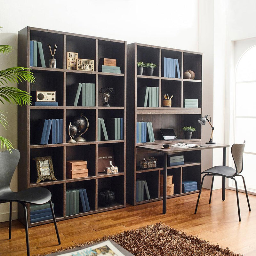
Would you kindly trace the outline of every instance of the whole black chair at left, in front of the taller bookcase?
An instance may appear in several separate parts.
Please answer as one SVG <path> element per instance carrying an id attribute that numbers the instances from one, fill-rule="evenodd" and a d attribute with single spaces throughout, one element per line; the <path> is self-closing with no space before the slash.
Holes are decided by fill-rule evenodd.
<path id="1" fill-rule="evenodd" d="M 52 207 L 52 194 L 48 189 L 28 188 L 20 192 L 12 192 L 10 188 L 10 183 L 12 180 L 13 173 L 19 163 L 19 160 L 20 152 L 17 149 L 13 149 L 12 153 L 10 153 L 9 151 L 0 152 L 0 201 L 10 202 L 9 239 L 11 239 L 12 236 L 12 202 L 18 202 L 23 205 L 26 229 L 27 254 L 28 256 L 30 256 L 28 241 L 28 213 L 26 203 L 45 204 L 49 202 L 52 210 L 52 217 L 59 244 L 60 236 Z"/>

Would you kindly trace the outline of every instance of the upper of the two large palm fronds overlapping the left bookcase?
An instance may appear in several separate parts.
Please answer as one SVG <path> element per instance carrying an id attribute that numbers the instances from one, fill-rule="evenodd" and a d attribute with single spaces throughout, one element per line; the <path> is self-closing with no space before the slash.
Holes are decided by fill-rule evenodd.
<path id="1" fill-rule="evenodd" d="M 22 67 L 13 67 L 6 68 L 5 70 L 0 70 L 0 83 L 4 85 L 4 83 L 8 82 L 22 82 L 27 81 L 29 83 L 34 83 L 36 78 L 34 74 L 28 71 L 29 68 Z"/>

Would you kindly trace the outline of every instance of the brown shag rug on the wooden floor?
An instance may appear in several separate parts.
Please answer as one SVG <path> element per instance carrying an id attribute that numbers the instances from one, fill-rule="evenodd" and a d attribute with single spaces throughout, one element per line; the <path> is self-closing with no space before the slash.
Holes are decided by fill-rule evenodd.
<path id="1" fill-rule="evenodd" d="M 76 244 L 65 249 L 61 248 L 55 252 L 94 244 L 108 239 L 112 239 L 127 251 L 138 256 L 241 256 L 241 254 L 231 252 L 228 248 L 223 249 L 218 244 L 211 244 L 197 236 L 187 235 L 163 223 L 124 231 L 112 236 L 104 236 L 94 241 Z M 35 256 L 43 255 L 46 254 L 36 254 Z"/>

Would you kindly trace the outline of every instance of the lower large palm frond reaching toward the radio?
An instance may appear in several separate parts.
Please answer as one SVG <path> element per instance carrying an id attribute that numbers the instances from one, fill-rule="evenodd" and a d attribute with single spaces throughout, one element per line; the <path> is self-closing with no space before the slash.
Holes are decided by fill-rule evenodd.
<path id="1" fill-rule="evenodd" d="M 17 105 L 27 105 L 31 102 L 31 96 L 28 92 L 21 91 L 14 87 L 0 87 L 0 102 L 4 104 L 3 100 L 9 103 L 14 103 Z"/>

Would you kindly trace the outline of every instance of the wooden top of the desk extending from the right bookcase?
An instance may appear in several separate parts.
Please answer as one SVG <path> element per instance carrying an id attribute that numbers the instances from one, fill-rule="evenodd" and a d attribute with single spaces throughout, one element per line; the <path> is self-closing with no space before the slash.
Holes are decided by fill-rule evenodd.
<path id="1" fill-rule="evenodd" d="M 168 144 L 168 143 L 166 143 L 166 144 Z M 196 143 L 192 142 L 192 144 L 196 144 Z M 164 148 L 161 148 L 162 144 L 158 144 L 158 145 L 137 146 L 137 148 L 145 149 L 145 150 L 151 150 L 151 151 L 155 151 L 155 152 L 173 154 L 173 153 L 183 152 L 183 151 L 204 150 L 204 149 L 212 149 L 212 148 L 228 148 L 229 147 L 228 144 L 220 144 L 220 143 L 217 143 L 217 144 L 205 144 L 205 143 L 199 142 L 199 143 L 197 143 L 197 145 L 207 145 L 209 147 L 202 147 L 202 148 L 197 148 L 197 147 L 196 148 L 176 148 L 176 147 L 172 147 L 171 144 L 170 144 L 170 148 L 164 149 Z"/>

